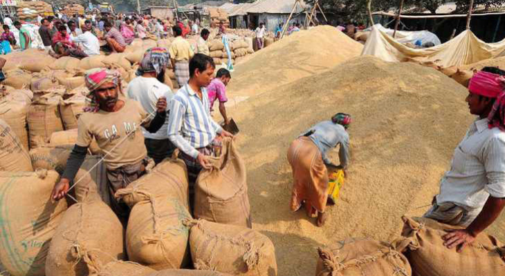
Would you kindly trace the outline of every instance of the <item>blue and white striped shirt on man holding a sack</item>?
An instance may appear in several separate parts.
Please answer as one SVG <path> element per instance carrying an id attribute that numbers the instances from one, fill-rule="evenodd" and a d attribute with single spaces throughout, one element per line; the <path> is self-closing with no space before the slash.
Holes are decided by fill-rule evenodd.
<path id="1" fill-rule="evenodd" d="M 168 138 L 185 154 L 198 157 L 196 148 L 205 148 L 221 133 L 222 128 L 210 116 L 210 103 L 206 88 L 201 88 L 202 98 L 186 84 L 170 101 Z"/>

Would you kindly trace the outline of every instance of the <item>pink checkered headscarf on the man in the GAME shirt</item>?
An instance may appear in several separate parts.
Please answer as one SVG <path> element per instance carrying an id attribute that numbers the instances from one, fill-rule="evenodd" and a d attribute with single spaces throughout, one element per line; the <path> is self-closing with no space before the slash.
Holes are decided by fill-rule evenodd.
<path id="1" fill-rule="evenodd" d="M 87 70 L 84 73 L 84 83 L 86 83 L 86 87 L 89 90 L 86 97 L 88 97 L 91 101 L 91 108 L 86 109 L 86 111 L 97 112 L 100 108 L 94 92 L 104 83 L 114 83 L 114 85 L 121 89 L 120 76 L 121 75 L 117 70 L 107 70 L 104 68 L 94 68 Z"/>

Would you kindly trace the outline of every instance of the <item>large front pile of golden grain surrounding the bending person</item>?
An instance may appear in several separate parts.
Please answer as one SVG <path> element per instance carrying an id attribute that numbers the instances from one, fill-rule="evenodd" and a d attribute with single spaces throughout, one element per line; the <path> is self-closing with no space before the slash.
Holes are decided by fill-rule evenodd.
<path id="1" fill-rule="evenodd" d="M 259 68 L 260 78 L 275 76 Z M 422 215 L 472 122 L 467 93 L 432 68 L 358 57 L 230 108 L 241 129 L 253 228 L 273 240 L 279 275 L 313 275 L 317 246 L 349 236 L 391 240 L 401 215 Z M 349 178 L 318 228 L 303 210 L 289 209 L 286 153 L 297 135 L 336 112 L 353 116 Z M 338 150 L 329 158 L 338 163 Z"/>

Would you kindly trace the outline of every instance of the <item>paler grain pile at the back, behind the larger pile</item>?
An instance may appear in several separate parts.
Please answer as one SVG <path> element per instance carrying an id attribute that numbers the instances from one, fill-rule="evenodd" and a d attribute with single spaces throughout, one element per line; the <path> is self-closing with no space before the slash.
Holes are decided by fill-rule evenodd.
<path id="1" fill-rule="evenodd" d="M 261 94 L 358 57 L 362 48 L 331 26 L 300 31 L 237 64 L 228 89 L 241 97 Z"/>

